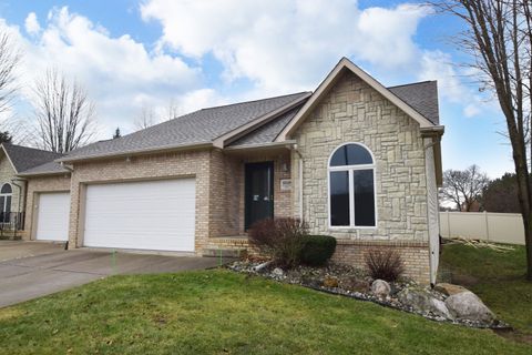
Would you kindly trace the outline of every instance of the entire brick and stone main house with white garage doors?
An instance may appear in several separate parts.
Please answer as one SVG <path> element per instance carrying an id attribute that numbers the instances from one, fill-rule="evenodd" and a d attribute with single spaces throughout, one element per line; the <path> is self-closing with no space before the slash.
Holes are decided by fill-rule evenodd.
<path id="1" fill-rule="evenodd" d="M 212 254 L 296 216 L 337 237 L 337 261 L 391 247 L 434 282 L 442 134 L 436 82 L 385 88 L 342 59 L 315 92 L 200 110 L 20 173 L 25 226 L 50 239 L 53 217 L 70 248 Z"/>

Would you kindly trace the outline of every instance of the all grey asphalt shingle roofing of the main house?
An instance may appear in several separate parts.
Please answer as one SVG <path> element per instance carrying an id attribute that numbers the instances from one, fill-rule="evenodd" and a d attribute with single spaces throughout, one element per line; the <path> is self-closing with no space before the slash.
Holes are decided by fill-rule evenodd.
<path id="1" fill-rule="evenodd" d="M 424 81 L 388 88 L 433 124 L 439 124 L 438 89 L 436 81 Z M 65 161 L 93 156 L 127 154 L 147 150 L 170 149 L 180 145 L 208 144 L 269 112 L 308 97 L 300 92 L 283 97 L 234 103 L 198 110 L 174 120 L 156 124 L 120 139 L 101 141 L 70 152 Z M 301 101 L 303 102 L 303 101 Z M 286 112 L 267 124 L 233 142 L 247 145 L 273 142 L 301 105 Z M 51 169 L 52 166 L 43 166 Z M 59 169 L 55 166 L 55 169 Z M 62 169 L 62 168 L 61 168 Z"/>

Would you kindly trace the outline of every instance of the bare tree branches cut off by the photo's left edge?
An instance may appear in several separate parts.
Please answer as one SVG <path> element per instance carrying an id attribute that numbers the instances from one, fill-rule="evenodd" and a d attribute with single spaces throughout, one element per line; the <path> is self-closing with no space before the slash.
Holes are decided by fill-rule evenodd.
<path id="1" fill-rule="evenodd" d="M 0 112 L 10 108 L 11 100 L 18 87 L 14 70 L 21 59 L 8 33 L 0 33 Z"/>

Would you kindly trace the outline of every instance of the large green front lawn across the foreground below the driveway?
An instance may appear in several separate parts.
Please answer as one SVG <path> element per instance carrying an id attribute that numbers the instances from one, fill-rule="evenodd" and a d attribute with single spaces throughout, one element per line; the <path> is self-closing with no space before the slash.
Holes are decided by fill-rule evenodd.
<path id="1" fill-rule="evenodd" d="M 530 354 L 491 331 L 227 271 L 113 276 L 0 310 L 3 354 Z"/>

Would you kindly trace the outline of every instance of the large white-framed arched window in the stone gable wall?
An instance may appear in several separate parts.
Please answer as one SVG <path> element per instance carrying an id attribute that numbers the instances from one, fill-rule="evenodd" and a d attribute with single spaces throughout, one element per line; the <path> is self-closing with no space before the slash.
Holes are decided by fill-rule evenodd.
<path id="1" fill-rule="evenodd" d="M 360 143 L 337 148 L 329 159 L 329 225 L 375 227 L 375 160 Z"/>

